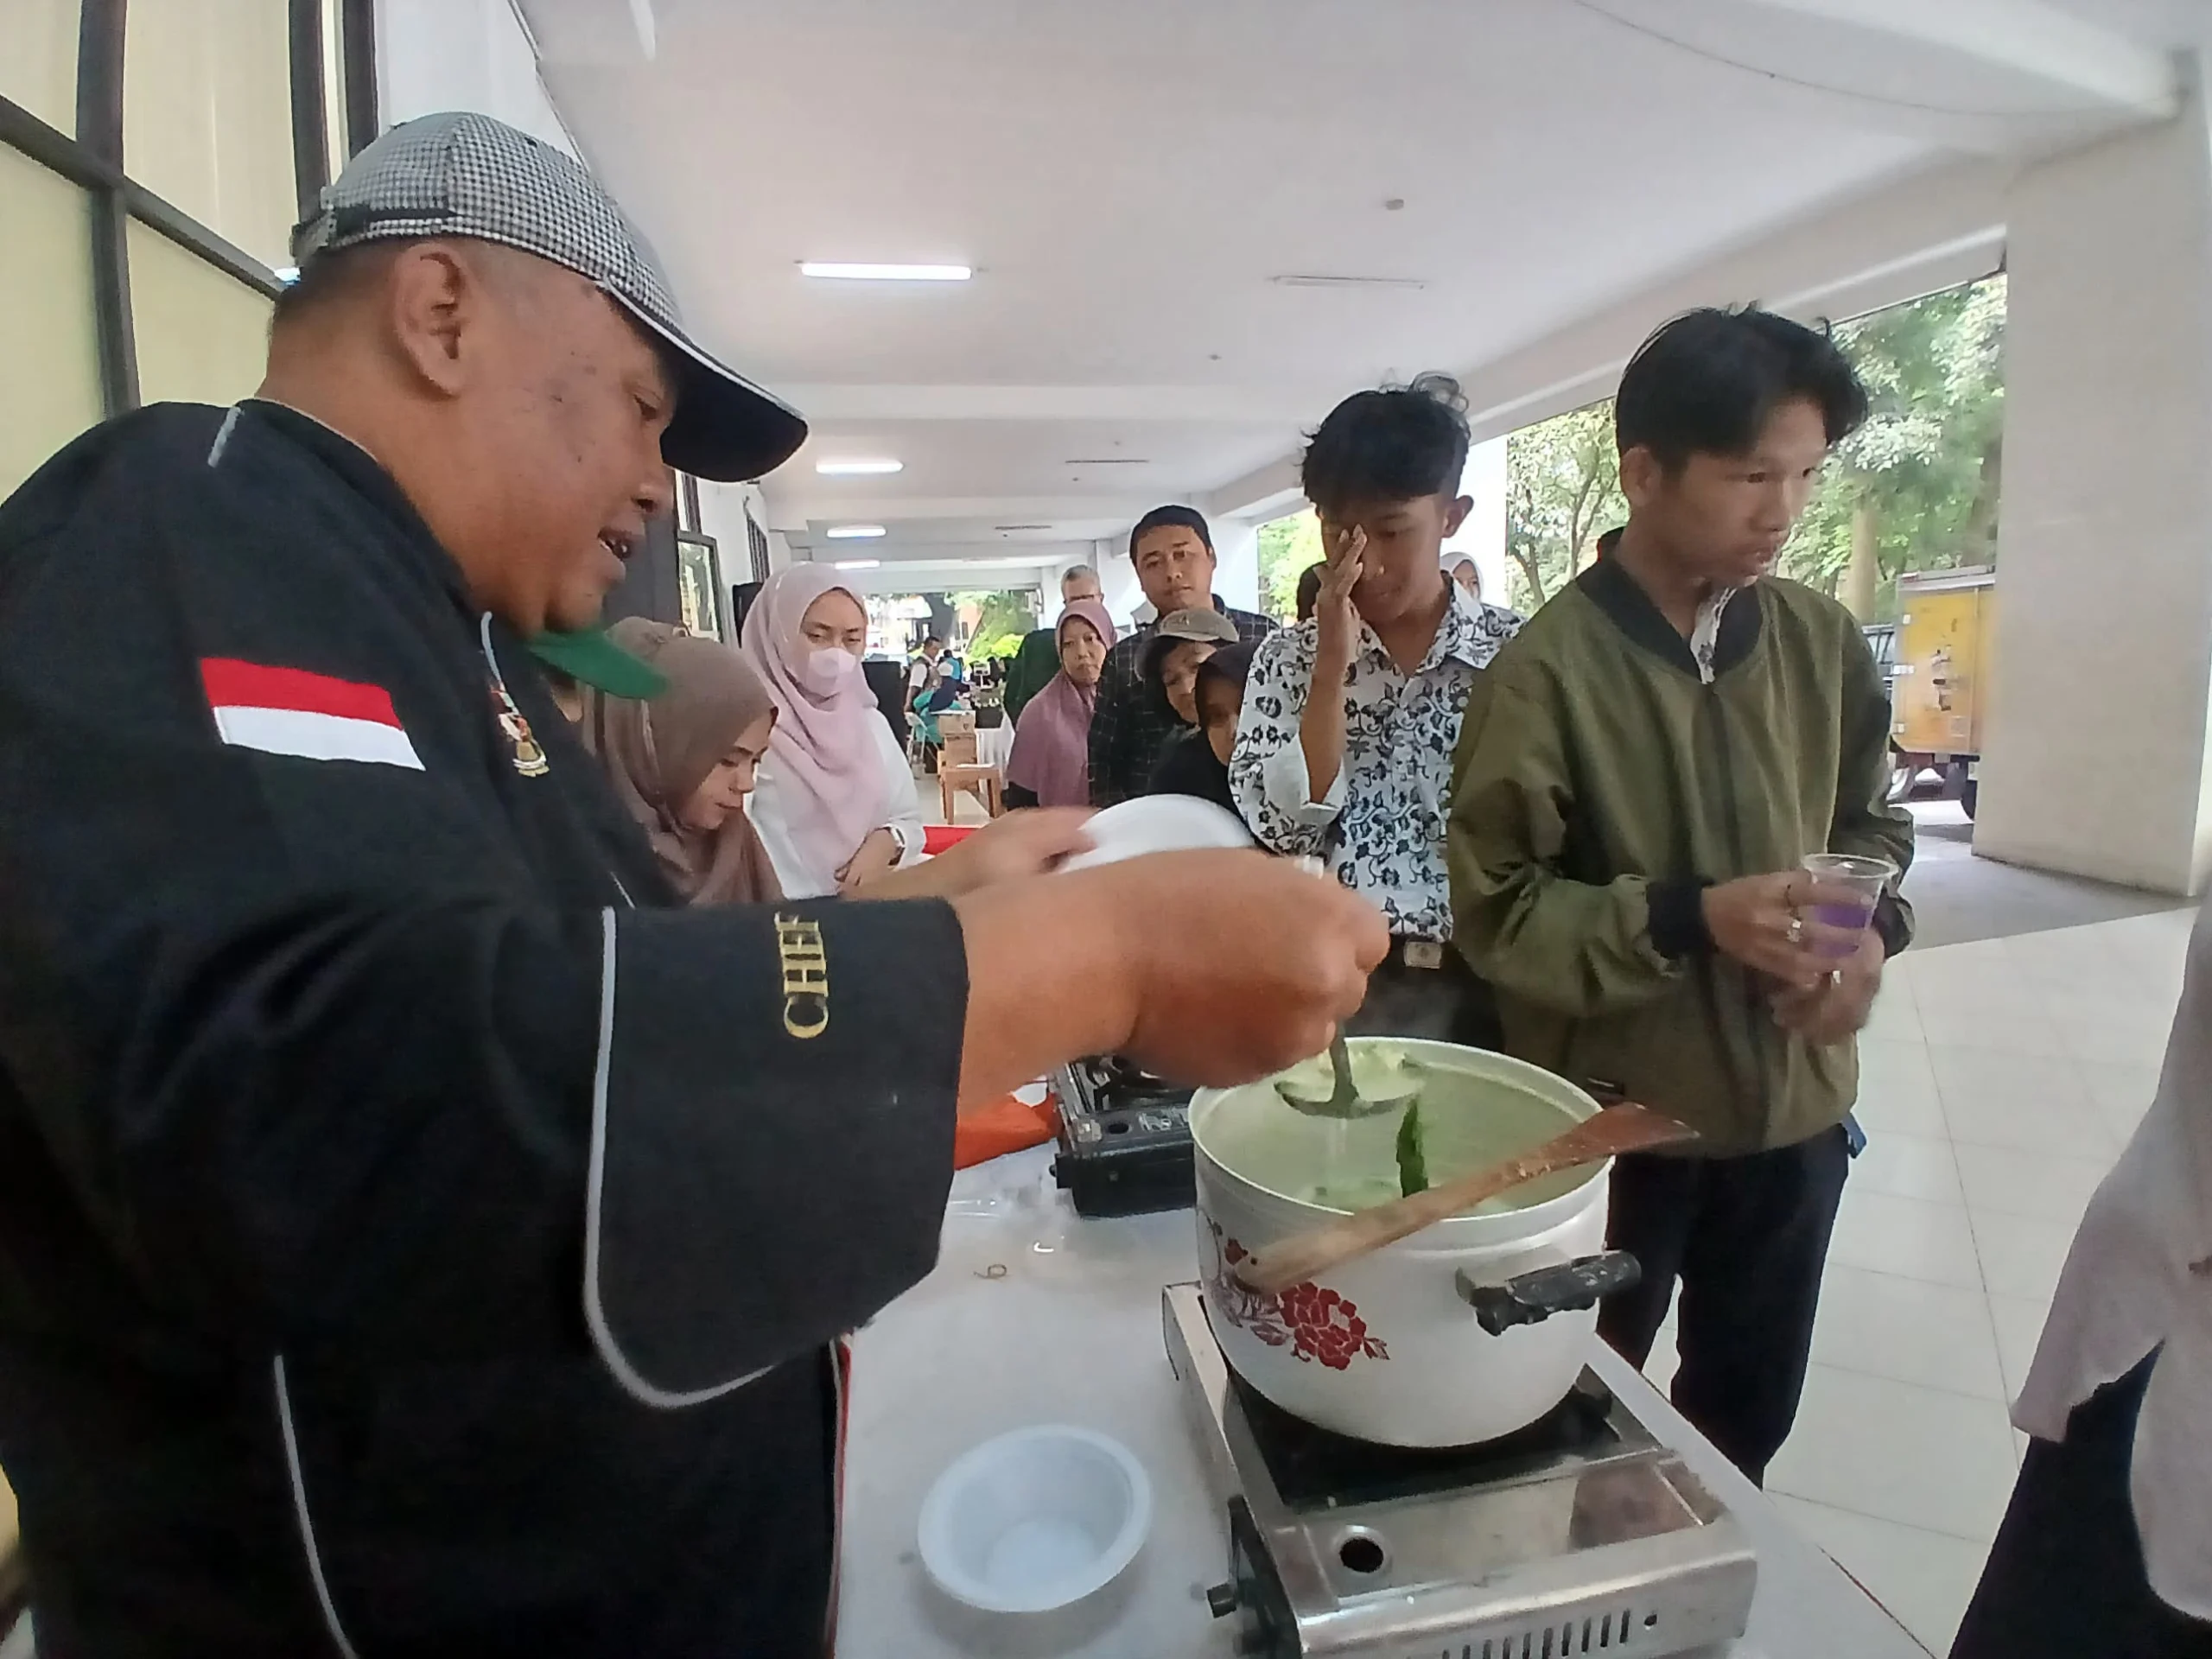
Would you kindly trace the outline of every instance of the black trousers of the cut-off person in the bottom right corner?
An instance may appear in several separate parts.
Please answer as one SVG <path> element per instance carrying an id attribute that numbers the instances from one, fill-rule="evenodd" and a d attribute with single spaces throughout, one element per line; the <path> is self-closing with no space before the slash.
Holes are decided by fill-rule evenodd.
<path id="1" fill-rule="evenodd" d="M 1951 1659 L 2208 1659 L 2212 1624 L 2159 1601 L 2128 1498 L 2143 1360 L 2035 1440 Z M 2212 1542 L 2205 1542 L 2212 1548 Z"/>

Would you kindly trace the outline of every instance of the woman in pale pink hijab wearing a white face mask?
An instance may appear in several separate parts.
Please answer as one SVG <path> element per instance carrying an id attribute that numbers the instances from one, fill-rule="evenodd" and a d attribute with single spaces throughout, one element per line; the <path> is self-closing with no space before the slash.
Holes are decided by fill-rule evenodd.
<path id="1" fill-rule="evenodd" d="M 823 564 L 794 564 L 745 615 L 776 703 L 748 810 L 787 898 L 858 894 L 922 856 L 914 772 L 860 675 L 867 608 Z"/>

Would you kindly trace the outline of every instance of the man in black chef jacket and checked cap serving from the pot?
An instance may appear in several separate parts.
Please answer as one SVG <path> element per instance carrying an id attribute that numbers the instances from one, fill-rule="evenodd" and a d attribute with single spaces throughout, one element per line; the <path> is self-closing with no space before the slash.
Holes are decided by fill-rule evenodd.
<path id="1" fill-rule="evenodd" d="M 380 137 L 296 252 L 259 398 L 0 507 L 40 1650 L 816 1655 L 827 1343 L 929 1270 L 956 1097 L 1259 1075 L 1380 925 L 1221 854 L 672 907 L 524 639 L 591 622 L 664 458 L 750 478 L 803 422 L 487 117 Z"/>

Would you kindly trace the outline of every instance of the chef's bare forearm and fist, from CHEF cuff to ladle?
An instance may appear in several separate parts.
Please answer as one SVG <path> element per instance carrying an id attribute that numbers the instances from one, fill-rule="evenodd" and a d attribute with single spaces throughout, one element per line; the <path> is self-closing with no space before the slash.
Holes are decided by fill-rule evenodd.
<path id="1" fill-rule="evenodd" d="M 1389 927 L 1367 900 L 1252 852 L 1177 852 L 953 900 L 967 933 L 960 1099 L 1077 1055 L 1245 1084 L 1321 1053 Z"/>

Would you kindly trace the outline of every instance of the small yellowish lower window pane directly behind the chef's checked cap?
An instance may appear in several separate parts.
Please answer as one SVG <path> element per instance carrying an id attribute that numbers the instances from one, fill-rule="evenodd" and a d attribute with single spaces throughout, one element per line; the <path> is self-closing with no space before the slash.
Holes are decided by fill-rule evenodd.
<path id="1" fill-rule="evenodd" d="M 237 403 L 261 385 L 270 296 L 131 221 L 142 403 Z"/>

